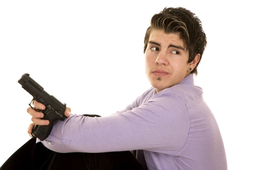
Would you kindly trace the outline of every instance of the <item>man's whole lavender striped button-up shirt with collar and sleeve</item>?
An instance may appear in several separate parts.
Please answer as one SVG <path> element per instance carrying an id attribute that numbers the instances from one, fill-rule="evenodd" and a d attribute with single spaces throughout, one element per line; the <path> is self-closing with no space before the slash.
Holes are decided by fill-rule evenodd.
<path id="1" fill-rule="evenodd" d="M 137 150 L 145 170 L 227 170 L 221 133 L 202 94 L 189 74 L 159 93 L 150 88 L 110 116 L 58 121 L 41 142 L 60 153 Z"/>

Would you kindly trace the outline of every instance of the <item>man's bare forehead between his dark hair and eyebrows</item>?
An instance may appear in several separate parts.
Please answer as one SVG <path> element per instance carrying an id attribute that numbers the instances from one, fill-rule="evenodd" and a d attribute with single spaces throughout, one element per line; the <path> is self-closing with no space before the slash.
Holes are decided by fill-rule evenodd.
<path id="1" fill-rule="evenodd" d="M 175 45 L 185 46 L 185 42 L 180 39 L 179 33 L 166 34 L 163 30 L 153 29 L 149 36 L 149 41 L 158 42 L 163 45 L 169 45 L 170 43 Z"/>

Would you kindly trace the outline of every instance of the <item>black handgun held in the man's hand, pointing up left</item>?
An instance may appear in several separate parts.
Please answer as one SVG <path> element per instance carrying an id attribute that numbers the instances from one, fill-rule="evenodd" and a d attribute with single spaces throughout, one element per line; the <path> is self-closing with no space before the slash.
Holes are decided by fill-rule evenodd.
<path id="1" fill-rule="evenodd" d="M 64 115 L 66 110 L 66 103 L 61 103 L 54 96 L 49 95 L 44 88 L 39 85 L 35 80 L 29 77 L 29 74 L 23 74 L 23 76 L 18 80 L 18 83 L 22 85 L 29 94 L 33 96 L 33 100 L 45 105 L 44 110 L 35 109 L 31 106 L 32 101 L 29 106 L 35 111 L 44 113 L 42 120 L 49 120 L 49 125 L 35 125 L 32 130 L 34 136 L 43 141 L 51 133 L 52 126 L 56 120 L 64 120 L 67 116 Z"/>

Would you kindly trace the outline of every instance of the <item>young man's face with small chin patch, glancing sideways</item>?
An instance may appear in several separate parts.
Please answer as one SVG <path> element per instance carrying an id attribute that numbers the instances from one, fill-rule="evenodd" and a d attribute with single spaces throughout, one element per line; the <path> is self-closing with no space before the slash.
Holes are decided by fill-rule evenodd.
<path id="1" fill-rule="evenodd" d="M 145 51 L 145 72 L 157 93 L 180 83 L 190 73 L 190 65 L 187 64 L 189 52 L 185 51 L 185 43 L 179 34 L 166 34 L 163 30 L 151 31 Z"/>

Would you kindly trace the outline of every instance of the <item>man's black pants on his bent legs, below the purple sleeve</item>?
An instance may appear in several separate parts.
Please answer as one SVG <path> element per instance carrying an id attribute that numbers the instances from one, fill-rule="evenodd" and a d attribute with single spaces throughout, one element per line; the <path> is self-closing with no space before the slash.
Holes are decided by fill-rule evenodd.
<path id="1" fill-rule="evenodd" d="M 131 151 L 57 153 L 35 141 L 30 139 L 26 142 L 0 170 L 143 170 Z"/>

